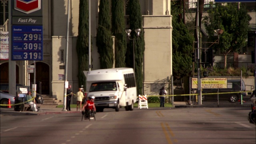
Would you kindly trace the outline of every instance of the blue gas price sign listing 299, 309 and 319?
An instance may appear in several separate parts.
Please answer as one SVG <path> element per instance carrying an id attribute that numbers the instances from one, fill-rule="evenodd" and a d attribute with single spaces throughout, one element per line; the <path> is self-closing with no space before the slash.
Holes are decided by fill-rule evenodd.
<path id="1" fill-rule="evenodd" d="M 12 60 L 43 60 L 43 26 L 12 26 Z"/>

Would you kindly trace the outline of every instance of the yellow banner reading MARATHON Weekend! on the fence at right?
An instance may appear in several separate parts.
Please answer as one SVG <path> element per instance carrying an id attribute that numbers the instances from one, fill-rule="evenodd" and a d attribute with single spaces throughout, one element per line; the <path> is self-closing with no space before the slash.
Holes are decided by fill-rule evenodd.
<path id="1" fill-rule="evenodd" d="M 191 78 L 191 88 L 197 88 L 197 78 Z M 201 78 L 201 88 L 227 88 L 227 78 Z"/>

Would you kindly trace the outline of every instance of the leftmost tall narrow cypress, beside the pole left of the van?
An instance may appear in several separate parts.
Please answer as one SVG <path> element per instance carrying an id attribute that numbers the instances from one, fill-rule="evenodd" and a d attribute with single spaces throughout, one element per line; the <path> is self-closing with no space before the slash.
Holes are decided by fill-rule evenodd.
<path id="1" fill-rule="evenodd" d="M 89 50 L 89 14 L 88 1 L 80 0 L 79 3 L 79 23 L 78 23 L 78 38 L 76 41 L 76 52 L 78 57 L 78 84 L 86 86 L 86 77 L 83 71 L 88 70 L 88 50 Z"/>

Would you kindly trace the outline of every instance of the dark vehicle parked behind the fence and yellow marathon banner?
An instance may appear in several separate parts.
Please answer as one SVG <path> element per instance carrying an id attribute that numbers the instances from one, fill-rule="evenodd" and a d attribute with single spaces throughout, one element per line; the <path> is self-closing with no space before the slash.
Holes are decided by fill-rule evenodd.
<path id="1" fill-rule="evenodd" d="M 244 80 L 242 80 L 242 93 L 241 91 L 241 80 L 228 80 L 227 88 L 206 88 L 202 89 L 202 100 L 217 100 L 217 94 L 207 94 L 207 93 L 222 93 L 222 92 L 238 92 L 238 93 L 228 93 L 219 94 L 219 100 L 228 100 L 229 102 L 237 102 L 242 96 L 246 96 Z M 207 94 L 207 95 L 206 95 Z"/>

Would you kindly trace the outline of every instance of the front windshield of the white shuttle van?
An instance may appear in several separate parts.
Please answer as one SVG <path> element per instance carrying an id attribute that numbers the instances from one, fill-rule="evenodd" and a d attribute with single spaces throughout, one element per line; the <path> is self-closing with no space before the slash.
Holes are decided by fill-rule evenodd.
<path id="1" fill-rule="evenodd" d="M 90 92 L 116 90 L 116 82 L 94 82 L 90 86 Z"/>

